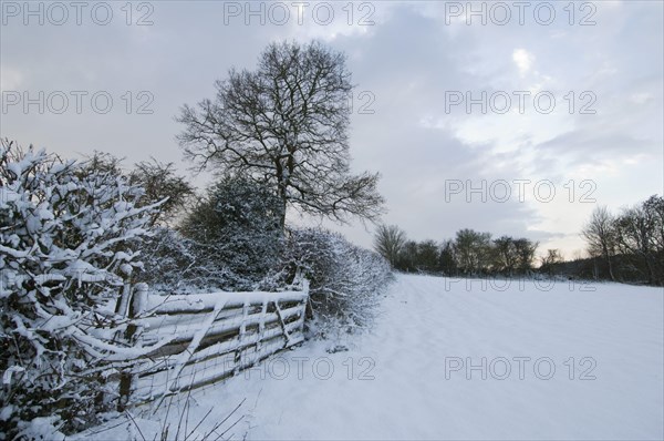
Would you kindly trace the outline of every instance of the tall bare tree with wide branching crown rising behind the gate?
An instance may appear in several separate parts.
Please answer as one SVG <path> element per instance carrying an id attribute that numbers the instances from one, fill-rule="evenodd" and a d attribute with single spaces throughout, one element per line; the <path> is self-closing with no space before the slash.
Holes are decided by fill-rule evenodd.
<path id="1" fill-rule="evenodd" d="M 378 175 L 350 171 L 350 81 L 342 53 L 318 42 L 272 43 L 257 70 L 231 69 L 218 81 L 215 101 L 181 109 L 180 145 L 201 170 L 269 184 L 284 208 L 376 221 Z"/>

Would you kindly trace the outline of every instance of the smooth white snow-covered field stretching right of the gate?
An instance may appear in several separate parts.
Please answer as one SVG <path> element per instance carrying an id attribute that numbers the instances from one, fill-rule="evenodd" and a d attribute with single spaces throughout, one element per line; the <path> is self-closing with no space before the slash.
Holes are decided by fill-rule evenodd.
<path id="1" fill-rule="evenodd" d="M 400 275 L 371 334 L 307 342 L 196 392 L 188 431 L 212 409 L 197 429 L 208 433 L 246 399 L 226 435 L 661 440 L 663 298 L 618 284 Z M 338 343 L 349 350 L 330 353 Z M 138 424 L 138 440 L 159 429 Z M 94 438 L 126 438 L 126 425 Z"/>

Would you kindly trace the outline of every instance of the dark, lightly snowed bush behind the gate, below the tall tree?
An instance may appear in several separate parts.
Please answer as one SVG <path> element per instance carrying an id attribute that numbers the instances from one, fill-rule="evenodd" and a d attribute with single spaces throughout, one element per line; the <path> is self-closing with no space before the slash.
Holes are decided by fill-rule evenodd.
<path id="1" fill-rule="evenodd" d="M 222 176 L 185 215 L 178 234 L 163 230 L 163 240 L 148 244 L 147 260 L 154 267 L 179 266 L 180 281 L 159 284 L 176 291 L 181 281 L 194 289 L 259 289 L 283 253 L 282 211 L 271 188 L 245 176 Z"/>

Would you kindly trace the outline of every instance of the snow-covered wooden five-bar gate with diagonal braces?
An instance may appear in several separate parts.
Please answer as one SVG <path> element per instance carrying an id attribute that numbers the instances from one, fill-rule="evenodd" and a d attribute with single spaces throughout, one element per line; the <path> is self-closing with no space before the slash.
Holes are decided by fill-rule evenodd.
<path id="1" fill-rule="evenodd" d="M 156 348 L 121 373 L 120 408 L 224 380 L 303 340 L 309 288 L 186 296 L 134 290 L 129 343 Z"/>

